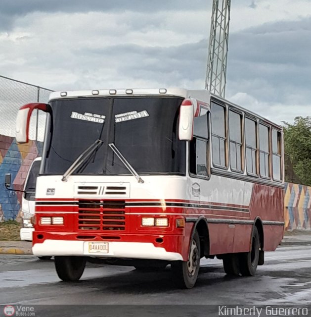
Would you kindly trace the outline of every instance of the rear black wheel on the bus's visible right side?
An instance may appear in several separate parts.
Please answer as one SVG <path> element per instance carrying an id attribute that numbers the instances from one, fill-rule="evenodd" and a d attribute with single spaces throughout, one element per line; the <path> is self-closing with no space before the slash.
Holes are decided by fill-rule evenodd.
<path id="1" fill-rule="evenodd" d="M 260 237 L 255 226 L 252 234 L 251 251 L 240 254 L 240 271 L 244 276 L 254 276 L 259 261 Z"/>

